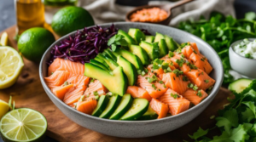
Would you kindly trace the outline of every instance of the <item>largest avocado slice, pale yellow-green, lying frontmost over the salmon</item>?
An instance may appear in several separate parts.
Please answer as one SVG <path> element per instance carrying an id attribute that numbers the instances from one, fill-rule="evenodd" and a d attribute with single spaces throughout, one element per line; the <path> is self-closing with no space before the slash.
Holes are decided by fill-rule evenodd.
<path id="1" fill-rule="evenodd" d="M 128 86 L 128 79 L 121 66 L 113 71 L 104 71 L 102 68 L 90 63 L 84 64 L 84 76 L 96 78 L 113 94 L 123 96 Z"/>

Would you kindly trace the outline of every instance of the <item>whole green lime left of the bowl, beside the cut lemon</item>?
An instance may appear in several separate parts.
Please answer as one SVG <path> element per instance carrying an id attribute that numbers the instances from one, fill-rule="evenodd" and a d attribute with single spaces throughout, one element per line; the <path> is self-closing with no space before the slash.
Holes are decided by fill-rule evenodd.
<path id="1" fill-rule="evenodd" d="M 19 38 L 18 48 L 27 60 L 39 62 L 47 48 L 55 42 L 53 34 L 42 28 L 34 27 L 24 31 Z"/>

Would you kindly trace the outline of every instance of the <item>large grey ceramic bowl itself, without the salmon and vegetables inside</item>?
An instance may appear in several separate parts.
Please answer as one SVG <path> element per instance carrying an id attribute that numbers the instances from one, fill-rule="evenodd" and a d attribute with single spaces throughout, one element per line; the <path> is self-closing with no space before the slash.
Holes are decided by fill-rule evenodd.
<path id="1" fill-rule="evenodd" d="M 96 132 L 111 135 L 111 136 L 116 136 L 116 137 L 123 137 L 123 138 L 150 137 L 150 136 L 155 136 L 162 133 L 170 132 L 192 121 L 196 116 L 198 116 L 202 111 L 204 111 L 207 108 L 207 106 L 212 102 L 216 94 L 218 94 L 218 90 L 222 85 L 223 77 L 224 77 L 223 65 L 221 60 L 218 57 L 218 54 L 214 51 L 214 49 L 209 44 L 201 40 L 201 38 L 195 37 L 194 35 L 191 35 L 186 31 L 181 31 L 169 26 L 160 26 L 160 25 L 146 24 L 146 23 L 116 22 L 116 23 L 102 24 L 99 26 L 102 26 L 104 28 L 104 27 L 112 26 L 112 24 L 116 28 L 121 29 L 123 31 L 128 31 L 130 28 L 147 29 L 148 32 L 152 33 L 153 35 L 155 32 L 158 32 L 167 36 L 172 36 L 172 38 L 177 43 L 187 43 L 187 42 L 196 43 L 199 49 L 198 52 L 203 54 L 204 57 L 207 57 L 207 61 L 212 66 L 212 70 L 208 72 L 207 73 L 208 75 L 206 76 L 212 78 L 212 80 L 214 80 L 215 83 L 212 86 L 211 92 L 207 94 L 206 98 L 201 99 L 201 102 L 199 104 L 194 105 L 193 107 L 187 109 L 186 111 L 181 111 L 178 114 L 175 114 L 172 116 L 165 116 L 160 119 L 120 121 L 120 120 L 110 120 L 104 117 L 97 117 L 97 116 L 91 116 L 91 115 L 85 114 L 81 111 L 74 109 L 70 105 L 67 105 L 67 103 L 59 99 L 52 92 L 52 89 L 49 88 L 49 84 L 47 84 L 46 80 L 44 79 L 45 77 L 48 77 L 51 74 L 51 72 L 48 71 L 48 68 L 49 68 L 48 63 L 49 63 L 49 60 L 51 59 L 51 50 L 55 47 L 55 45 L 61 44 L 61 41 L 63 39 L 67 39 L 69 36 L 73 36 L 77 32 L 77 31 L 73 31 L 72 33 L 69 33 L 64 37 L 61 37 L 59 40 L 53 43 L 44 53 L 44 56 L 39 65 L 39 77 L 46 94 L 49 96 L 49 99 L 51 99 L 52 102 L 61 110 L 61 112 L 64 113 L 73 122 L 78 123 L 80 126 L 84 128 L 89 128 Z M 90 65 L 88 63 L 85 63 L 85 71 L 86 71 L 86 68 L 90 68 Z M 86 75 L 87 73 L 88 72 L 85 72 Z M 92 76 L 93 76 L 93 73 L 92 73 Z M 209 81 L 207 80 L 207 82 Z M 110 83 L 111 84 L 109 86 L 113 86 L 114 88 L 114 85 L 113 85 L 114 83 L 112 82 Z M 108 84 L 104 84 L 104 86 L 108 87 Z M 170 89 L 166 90 L 168 94 L 171 94 L 170 96 L 172 96 L 172 91 L 173 90 L 170 91 Z M 175 94 L 175 92 L 173 94 Z M 176 96 L 176 98 L 177 97 L 179 96 Z M 181 98 L 183 97 L 181 96 Z M 162 101 L 164 102 L 164 100 Z M 169 109 L 171 108 L 169 107 Z"/>

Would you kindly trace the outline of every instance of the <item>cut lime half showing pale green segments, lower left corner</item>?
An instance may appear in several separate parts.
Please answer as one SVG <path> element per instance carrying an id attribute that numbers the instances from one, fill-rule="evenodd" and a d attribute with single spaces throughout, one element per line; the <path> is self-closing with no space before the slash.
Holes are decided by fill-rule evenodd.
<path id="1" fill-rule="evenodd" d="M 38 111 L 22 108 L 9 111 L 0 122 L 4 141 L 40 141 L 47 129 L 45 117 Z"/>

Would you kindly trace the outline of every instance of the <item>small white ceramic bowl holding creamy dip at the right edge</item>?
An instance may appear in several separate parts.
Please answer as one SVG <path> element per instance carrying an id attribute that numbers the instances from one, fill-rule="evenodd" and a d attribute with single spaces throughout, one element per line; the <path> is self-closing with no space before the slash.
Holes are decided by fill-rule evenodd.
<path id="1" fill-rule="evenodd" d="M 253 41 L 256 38 L 248 38 L 249 41 Z M 230 65 L 234 71 L 239 72 L 241 75 L 249 78 L 256 78 L 256 60 L 248 59 L 240 54 L 236 54 L 234 47 L 241 43 L 243 39 L 236 41 L 230 45 Z"/>

